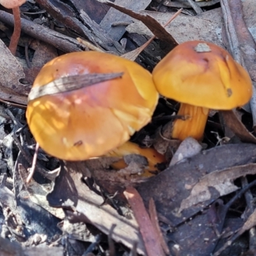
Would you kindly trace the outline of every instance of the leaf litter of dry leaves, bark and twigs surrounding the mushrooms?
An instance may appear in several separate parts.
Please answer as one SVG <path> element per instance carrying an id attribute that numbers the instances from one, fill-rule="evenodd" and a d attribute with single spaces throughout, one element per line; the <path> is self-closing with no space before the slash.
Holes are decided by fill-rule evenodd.
<path id="1" fill-rule="evenodd" d="M 151 71 L 175 45 L 206 40 L 240 56 L 237 61 L 248 69 L 255 86 L 255 2 L 196 4 L 203 13 L 195 15 L 191 5 L 182 1 L 90 0 L 86 8 L 78 0 L 27 1 L 22 6 L 24 41 L 20 40 L 17 58 L 3 43 L 8 42 L 3 34 L 10 35 L 10 28 L 1 28 L 3 255 L 125 255 L 130 250 L 131 255 L 255 253 L 255 235 L 250 232 L 255 209 L 252 202 L 243 200 L 243 196 L 253 198 L 255 189 L 254 95 L 250 106 L 239 112 L 210 116 L 203 143 L 169 138 L 170 114 L 177 113 L 177 105 L 161 98 L 152 123 L 132 138 L 166 154 L 168 162 L 158 168 L 162 172 L 149 179 L 141 175 L 147 161 L 136 155 L 129 156 L 124 169 L 113 170 L 111 164 L 120 157 L 68 163 L 40 151 L 35 175 L 26 182 L 35 141 L 22 128 L 26 124 L 23 109 L 38 71 L 60 51 L 83 51 L 93 45 L 95 50 L 123 55 Z M 166 24 L 177 8 L 184 9 Z M 12 15 L 4 10 L 0 10 L 0 20 L 12 26 Z M 227 31 L 232 29 L 236 33 L 230 36 Z M 75 39 L 77 35 L 84 44 Z M 147 42 L 149 36 L 156 38 Z M 149 227 L 151 231 L 145 229 Z M 245 232 L 250 239 L 244 239 Z"/>

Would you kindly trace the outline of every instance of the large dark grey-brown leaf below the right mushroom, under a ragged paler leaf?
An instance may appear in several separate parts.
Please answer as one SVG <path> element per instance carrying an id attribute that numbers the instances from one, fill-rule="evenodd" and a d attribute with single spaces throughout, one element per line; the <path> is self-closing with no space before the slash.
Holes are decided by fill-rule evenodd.
<path id="1" fill-rule="evenodd" d="M 202 211 L 206 205 L 212 203 L 212 200 L 219 198 L 220 193 L 214 188 L 209 188 L 210 200 L 179 212 L 182 200 L 188 198 L 198 180 L 201 180 L 207 173 L 253 163 L 256 160 L 255 156 L 256 145 L 246 143 L 222 145 L 184 159 L 181 163 L 139 184 L 137 188 L 145 204 L 147 205 L 152 197 L 156 202 L 157 212 L 168 218 L 175 226 L 195 215 L 196 212 Z"/>

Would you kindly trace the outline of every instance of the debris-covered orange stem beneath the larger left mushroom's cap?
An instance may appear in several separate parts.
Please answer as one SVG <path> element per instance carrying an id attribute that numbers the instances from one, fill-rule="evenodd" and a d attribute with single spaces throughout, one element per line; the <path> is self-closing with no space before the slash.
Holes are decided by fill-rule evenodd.
<path id="1" fill-rule="evenodd" d="M 159 154 L 154 148 L 141 148 L 136 143 L 132 143 L 131 141 L 127 141 L 120 147 L 111 150 L 111 152 L 108 152 L 106 156 L 123 157 L 131 154 L 138 154 L 147 158 L 148 167 L 146 168 L 145 173 L 143 173 L 143 176 L 152 176 L 150 171 L 157 171 L 156 164 L 164 163 L 166 161 L 165 157 Z M 127 164 L 125 164 L 124 159 L 122 159 L 114 164 L 111 164 L 111 166 L 116 170 L 120 170 L 127 167 Z"/>

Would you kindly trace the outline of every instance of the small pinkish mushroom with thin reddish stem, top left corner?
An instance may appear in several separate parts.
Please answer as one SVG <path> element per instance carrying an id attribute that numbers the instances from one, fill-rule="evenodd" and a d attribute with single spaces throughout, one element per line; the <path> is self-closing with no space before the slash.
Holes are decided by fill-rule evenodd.
<path id="1" fill-rule="evenodd" d="M 0 0 L 0 4 L 7 9 L 12 9 L 14 19 L 14 30 L 10 40 L 9 50 L 15 55 L 17 45 L 20 38 L 21 20 L 20 20 L 20 6 L 24 4 L 26 0 Z"/>

